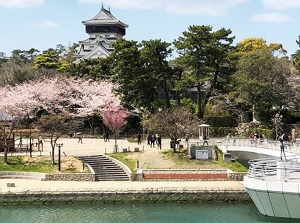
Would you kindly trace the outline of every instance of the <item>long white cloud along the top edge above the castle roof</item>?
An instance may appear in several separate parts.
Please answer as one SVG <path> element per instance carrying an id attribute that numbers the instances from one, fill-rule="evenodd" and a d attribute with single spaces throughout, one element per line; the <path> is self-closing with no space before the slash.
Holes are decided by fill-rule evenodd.
<path id="1" fill-rule="evenodd" d="M 250 0 L 78 0 L 79 3 L 108 5 L 114 8 L 153 9 L 164 8 L 179 15 L 221 16 L 230 8 Z"/>

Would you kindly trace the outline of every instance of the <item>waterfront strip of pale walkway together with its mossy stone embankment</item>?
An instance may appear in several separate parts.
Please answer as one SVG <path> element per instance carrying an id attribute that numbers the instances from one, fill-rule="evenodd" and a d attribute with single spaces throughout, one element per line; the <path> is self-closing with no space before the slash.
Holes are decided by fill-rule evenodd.
<path id="1" fill-rule="evenodd" d="M 15 187 L 7 187 L 14 183 Z M 241 181 L 49 182 L 0 180 L 0 206 L 80 203 L 250 203 Z"/>

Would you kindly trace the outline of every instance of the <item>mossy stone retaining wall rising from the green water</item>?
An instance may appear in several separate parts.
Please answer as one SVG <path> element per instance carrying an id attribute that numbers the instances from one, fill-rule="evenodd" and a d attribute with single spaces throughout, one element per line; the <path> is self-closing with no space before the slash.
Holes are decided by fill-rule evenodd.
<path id="1" fill-rule="evenodd" d="M 128 192 L 130 191 L 130 192 Z M 143 190 L 110 190 L 85 192 L 22 192 L 0 194 L 1 205 L 43 205 L 43 204 L 122 204 L 122 203 L 250 203 L 246 191 L 235 190 L 181 190 L 143 189 Z"/>

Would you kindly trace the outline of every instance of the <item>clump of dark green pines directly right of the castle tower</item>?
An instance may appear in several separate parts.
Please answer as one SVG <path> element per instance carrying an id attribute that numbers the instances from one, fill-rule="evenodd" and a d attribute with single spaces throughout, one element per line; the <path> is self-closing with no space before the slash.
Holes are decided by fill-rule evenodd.
<path id="1" fill-rule="evenodd" d="M 136 41 L 120 39 L 111 54 L 112 80 L 127 107 L 155 110 L 159 102 L 170 107 L 174 87 L 174 70 L 169 66 L 171 44 L 161 40 Z"/>

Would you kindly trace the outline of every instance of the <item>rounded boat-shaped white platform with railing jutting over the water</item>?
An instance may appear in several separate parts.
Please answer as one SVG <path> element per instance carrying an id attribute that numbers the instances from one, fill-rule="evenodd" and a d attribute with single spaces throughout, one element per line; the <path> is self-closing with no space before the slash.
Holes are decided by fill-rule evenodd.
<path id="1" fill-rule="evenodd" d="M 244 186 L 261 214 L 300 218 L 300 156 L 250 161 Z"/>

